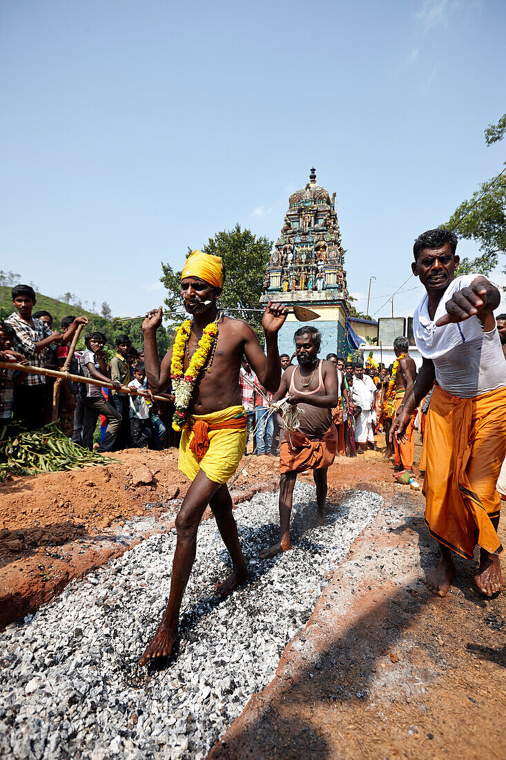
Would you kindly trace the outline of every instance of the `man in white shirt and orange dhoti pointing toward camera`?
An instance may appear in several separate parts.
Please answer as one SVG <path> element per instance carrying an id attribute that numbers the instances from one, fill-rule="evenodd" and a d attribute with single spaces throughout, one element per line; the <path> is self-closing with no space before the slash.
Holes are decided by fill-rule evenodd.
<path id="1" fill-rule="evenodd" d="M 455 575 L 453 552 L 473 559 L 480 546 L 476 587 L 501 590 L 497 483 L 506 452 L 506 363 L 493 310 L 500 295 L 480 274 L 455 277 L 457 236 L 429 230 L 415 241 L 412 264 L 427 293 L 413 317 L 423 365 L 392 425 L 402 441 L 413 411 L 434 380 L 425 424 L 425 524 L 439 543 L 438 568 L 425 585 L 446 596 Z"/>

